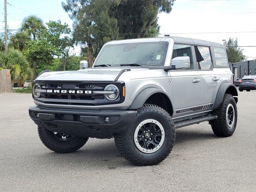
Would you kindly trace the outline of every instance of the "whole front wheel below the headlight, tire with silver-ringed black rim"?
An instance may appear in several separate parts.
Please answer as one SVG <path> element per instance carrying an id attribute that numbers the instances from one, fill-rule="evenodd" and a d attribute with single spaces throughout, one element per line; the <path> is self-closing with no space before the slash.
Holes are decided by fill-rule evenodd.
<path id="1" fill-rule="evenodd" d="M 126 133 L 115 135 L 120 154 L 138 166 L 156 165 L 171 152 L 176 138 L 170 115 L 159 106 L 144 104 Z"/>

